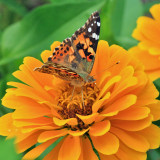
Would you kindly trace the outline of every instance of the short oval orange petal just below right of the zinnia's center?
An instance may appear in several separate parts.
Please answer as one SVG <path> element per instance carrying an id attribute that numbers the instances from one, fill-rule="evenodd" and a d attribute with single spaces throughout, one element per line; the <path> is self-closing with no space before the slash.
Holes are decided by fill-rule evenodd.
<path id="1" fill-rule="evenodd" d="M 89 129 L 89 134 L 91 136 L 102 136 L 110 130 L 110 121 L 104 120 L 93 124 Z"/>

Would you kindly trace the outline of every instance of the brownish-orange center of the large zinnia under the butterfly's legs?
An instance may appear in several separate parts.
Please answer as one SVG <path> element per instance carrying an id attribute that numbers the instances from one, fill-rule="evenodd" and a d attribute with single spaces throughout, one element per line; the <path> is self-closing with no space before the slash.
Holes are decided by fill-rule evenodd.
<path id="1" fill-rule="evenodd" d="M 99 89 L 94 83 L 87 83 L 82 87 L 75 87 L 68 85 L 65 90 L 62 91 L 58 100 L 58 105 L 62 107 L 58 110 L 58 113 L 63 119 L 77 118 L 77 126 L 68 126 L 73 130 L 88 128 L 83 121 L 77 116 L 91 115 L 92 106 L 99 94 Z"/>

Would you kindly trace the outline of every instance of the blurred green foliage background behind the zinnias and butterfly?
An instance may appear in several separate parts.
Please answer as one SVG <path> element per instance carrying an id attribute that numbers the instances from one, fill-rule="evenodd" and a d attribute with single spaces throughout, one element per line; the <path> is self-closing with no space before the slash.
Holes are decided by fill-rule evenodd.
<path id="1" fill-rule="evenodd" d="M 40 59 L 53 41 L 70 37 L 90 14 L 100 11 L 100 39 L 128 49 L 137 44 L 131 37 L 139 16 L 160 0 L 0 0 L 0 99 L 12 72 L 25 56 Z M 160 80 L 154 82 L 160 91 Z M 0 116 L 11 110 L 0 104 Z M 160 126 L 160 121 L 155 122 Z M 13 140 L 0 137 L 0 160 L 18 160 Z M 8 151 L 10 152 L 8 154 Z M 39 158 L 41 160 L 41 158 Z M 160 149 L 148 152 L 147 160 L 160 160 Z"/>

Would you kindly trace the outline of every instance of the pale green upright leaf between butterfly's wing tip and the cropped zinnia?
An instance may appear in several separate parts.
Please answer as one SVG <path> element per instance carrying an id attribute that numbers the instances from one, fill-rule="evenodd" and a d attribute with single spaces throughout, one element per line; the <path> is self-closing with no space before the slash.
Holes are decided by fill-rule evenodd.
<path id="1" fill-rule="evenodd" d="M 138 17 L 143 14 L 142 3 L 140 0 L 112 0 L 110 3 L 110 28 L 113 37 L 122 47 L 130 48 L 136 44 L 131 34 Z"/>

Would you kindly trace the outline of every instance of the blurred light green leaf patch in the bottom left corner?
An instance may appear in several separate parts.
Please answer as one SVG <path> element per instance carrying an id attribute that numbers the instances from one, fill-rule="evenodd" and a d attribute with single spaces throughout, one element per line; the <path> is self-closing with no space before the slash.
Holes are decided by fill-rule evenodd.
<path id="1" fill-rule="evenodd" d="M 0 139 L 0 159 L 1 160 L 20 160 L 21 156 L 16 153 L 14 139 Z"/>

